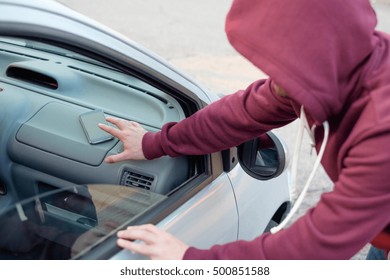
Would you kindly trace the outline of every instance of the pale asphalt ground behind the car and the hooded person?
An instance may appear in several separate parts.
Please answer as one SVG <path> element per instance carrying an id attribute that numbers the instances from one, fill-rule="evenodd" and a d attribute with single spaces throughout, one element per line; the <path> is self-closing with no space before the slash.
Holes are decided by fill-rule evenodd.
<path id="1" fill-rule="evenodd" d="M 230 94 L 265 77 L 228 43 L 225 16 L 231 0 L 60 0 L 60 2 L 122 33 L 152 50 L 210 90 Z M 390 0 L 372 1 L 378 29 L 390 31 Z M 293 151 L 297 122 L 276 132 Z M 316 156 L 307 138 L 300 152 L 297 192 L 310 174 Z M 332 183 L 320 168 L 296 220 L 317 203 Z M 367 246 L 353 259 L 364 259 Z"/>

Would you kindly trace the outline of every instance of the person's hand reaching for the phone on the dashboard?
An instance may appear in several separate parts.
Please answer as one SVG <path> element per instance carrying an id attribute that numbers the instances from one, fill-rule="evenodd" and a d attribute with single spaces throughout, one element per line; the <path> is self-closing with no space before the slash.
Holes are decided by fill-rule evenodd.
<path id="1" fill-rule="evenodd" d="M 100 129 L 118 138 L 123 143 L 123 152 L 117 155 L 108 156 L 105 161 L 108 163 L 115 163 L 129 159 L 145 159 L 142 151 L 142 138 L 147 131 L 136 122 L 112 117 L 107 117 L 106 120 L 114 124 L 117 128 L 105 124 L 99 124 Z"/>

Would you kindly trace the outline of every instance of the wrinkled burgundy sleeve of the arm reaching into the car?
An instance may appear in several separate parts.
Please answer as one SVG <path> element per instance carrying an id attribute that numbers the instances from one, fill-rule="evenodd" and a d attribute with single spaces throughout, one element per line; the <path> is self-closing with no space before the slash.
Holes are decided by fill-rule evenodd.
<path id="1" fill-rule="evenodd" d="M 207 154 L 237 146 L 294 119 L 291 100 L 276 95 L 270 79 L 259 80 L 181 122 L 148 132 L 142 149 L 147 159 Z"/>

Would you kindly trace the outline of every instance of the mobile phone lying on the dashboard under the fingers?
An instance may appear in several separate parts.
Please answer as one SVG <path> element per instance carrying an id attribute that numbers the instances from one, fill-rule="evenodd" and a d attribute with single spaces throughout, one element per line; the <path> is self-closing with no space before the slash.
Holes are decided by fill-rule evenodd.
<path id="1" fill-rule="evenodd" d="M 112 140 L 114 136 L 100 129 L 98 124 L 107 124 L 102 110 L 93 110 L 79 116 L 81 126 L 90 144 L 98 144 Z"/>

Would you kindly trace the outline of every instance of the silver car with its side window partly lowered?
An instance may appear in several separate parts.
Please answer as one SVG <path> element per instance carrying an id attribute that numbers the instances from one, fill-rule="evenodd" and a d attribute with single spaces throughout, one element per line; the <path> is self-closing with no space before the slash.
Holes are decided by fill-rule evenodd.
<path id="1" fill-rule="evenodd" d="M 0 11 L 1 259 L 140 259 L 116 232 L 144 223 L 208 248 L 289 211 L 272 132 L 203 156 L 105 163 L 123 147 L 100 135 L 104 115 L 158 131 L 218 96 L 55 1 L 0 0 Z"/>

